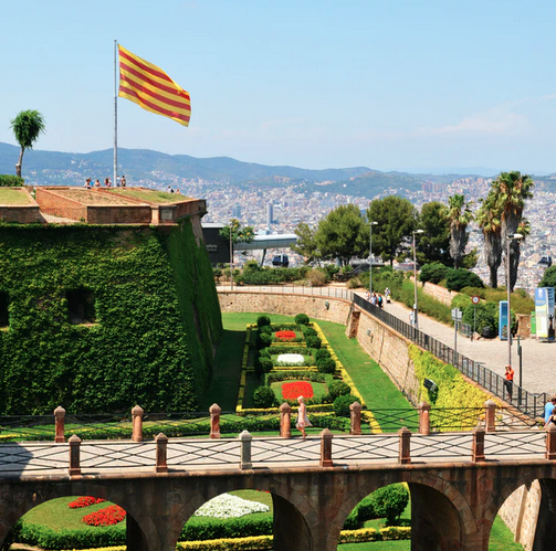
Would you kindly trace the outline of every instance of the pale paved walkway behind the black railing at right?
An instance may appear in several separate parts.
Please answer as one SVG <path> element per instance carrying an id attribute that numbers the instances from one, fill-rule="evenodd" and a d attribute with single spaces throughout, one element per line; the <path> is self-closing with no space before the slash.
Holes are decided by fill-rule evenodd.
<path id="1" fill-rule="evenodd" d="M 358 293 L 365 296 L 364 293 Z M 386 305 L 386 311 L 401 320 L 409 321 L 409 308 L 391 303 Z M 424 314 L 419 314 L 419 329 L 430 337 L 454 347 L 454 329 Z M 539 342 L 536 339 L 523 339 L 523 388 L 529 392 L 541 394 L 546 392 L 556 394 L 556 342 Z M 484 363 L 484 365 L 500 375 L 504 375 L 507 363 L 507 342 L 496 339 L 473 340 L 458 335 L 458 352 L 468 358 Z M 512 346 L 512 364 L 515 371 L 515 382 L 520 383 L 517 341 Z"/>

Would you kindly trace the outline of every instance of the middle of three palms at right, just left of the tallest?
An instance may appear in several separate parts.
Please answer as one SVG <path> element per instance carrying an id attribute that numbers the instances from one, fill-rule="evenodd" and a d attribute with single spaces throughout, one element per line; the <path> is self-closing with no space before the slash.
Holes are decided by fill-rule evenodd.
<path id="1" fill-rule="evenodd" d="M 502 263 L 502 223 L 501 212 L 493 190 L 481 200 L 475 220 L 484 236 L 484 257 L 490 269 L 490 286 L 499 286 L 499 267 Z"/>

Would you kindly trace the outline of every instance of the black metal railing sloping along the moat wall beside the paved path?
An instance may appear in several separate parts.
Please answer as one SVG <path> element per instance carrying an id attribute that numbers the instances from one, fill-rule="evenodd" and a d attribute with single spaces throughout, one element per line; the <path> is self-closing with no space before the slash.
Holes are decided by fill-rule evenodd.
<path id="1" fill-rule="evenodd" d="M 395 331 L 402 335 L 406 339 L 431 352 L 445 363 L 451 363 L 465 377 L 469 377 L 471 380 L 479 383 L 491 394 L 506 400 L 507 392 L 504 389 L 504 378 L 485 368 L 481 362 L 471 360 L 470 358 L 461 354 L 448 345 L 444 345 L 433 337 L 430 337 L 429 335 L 416 329 L 410 324 L 407 324 L 396 316 L 392 316 L 388 311 L 385 311 L 381 308 L 371 305 L 368 300 L 360 297 L 359 295 L 354 295 L 354 304 L 357 305 L 361 310 L 365 310 L 373 317 L 391 327 Z M 548 398 L 546 393 L 535 394 L 533 392 L 528 392 L 514 382 L 512 404 L 525 415 L 528 415 L 533 418 L 543 417 L 544 406 Z"/>

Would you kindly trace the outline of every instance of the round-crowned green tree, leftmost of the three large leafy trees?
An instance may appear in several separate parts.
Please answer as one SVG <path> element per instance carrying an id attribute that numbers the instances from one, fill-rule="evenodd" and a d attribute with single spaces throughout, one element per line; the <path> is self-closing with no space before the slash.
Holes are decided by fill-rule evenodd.
<path id="1" fill-rule="evenodd" d="M 368 251 L 368 232 L 355 204 L 343 204 L 318 222 L 315 243 L 323 258 L 338 258 L 342 266 Z M 367 235 L 367 237 L 366 237 Z"/>

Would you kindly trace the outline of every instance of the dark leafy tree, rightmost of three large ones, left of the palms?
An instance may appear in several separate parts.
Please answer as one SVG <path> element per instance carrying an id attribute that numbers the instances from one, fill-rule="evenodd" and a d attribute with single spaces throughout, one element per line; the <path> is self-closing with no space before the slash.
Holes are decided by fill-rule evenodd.
<path id="1" fill-rule="evenodd" d="M 424 233 L 417 243 L 417 262 L 420 265 L 441 262 L 451 265 L 450 223 L 444 215 L 444 205 L 438 201 L 424 203 L 419 214 L 418 225 Z"/>

